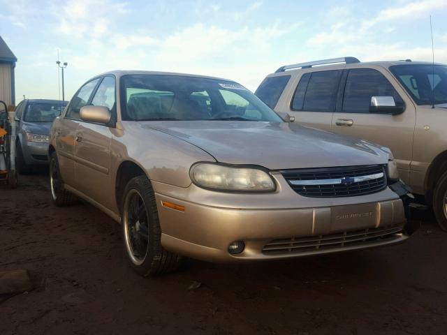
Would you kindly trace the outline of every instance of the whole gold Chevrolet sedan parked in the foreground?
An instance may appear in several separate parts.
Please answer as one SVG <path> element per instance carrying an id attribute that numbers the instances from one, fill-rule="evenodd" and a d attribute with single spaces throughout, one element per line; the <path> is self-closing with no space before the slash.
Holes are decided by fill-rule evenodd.
<path id="1" fill-rule="evenodd" d="M 182 256 L 277 260 L 411 234 L 388 149 L 291 129 L 230 80 L 98 75 L 54 120 L 48 154 L 54 204 L 82 198 L 122 223 L 144 276 L 173 271 Z"/>

